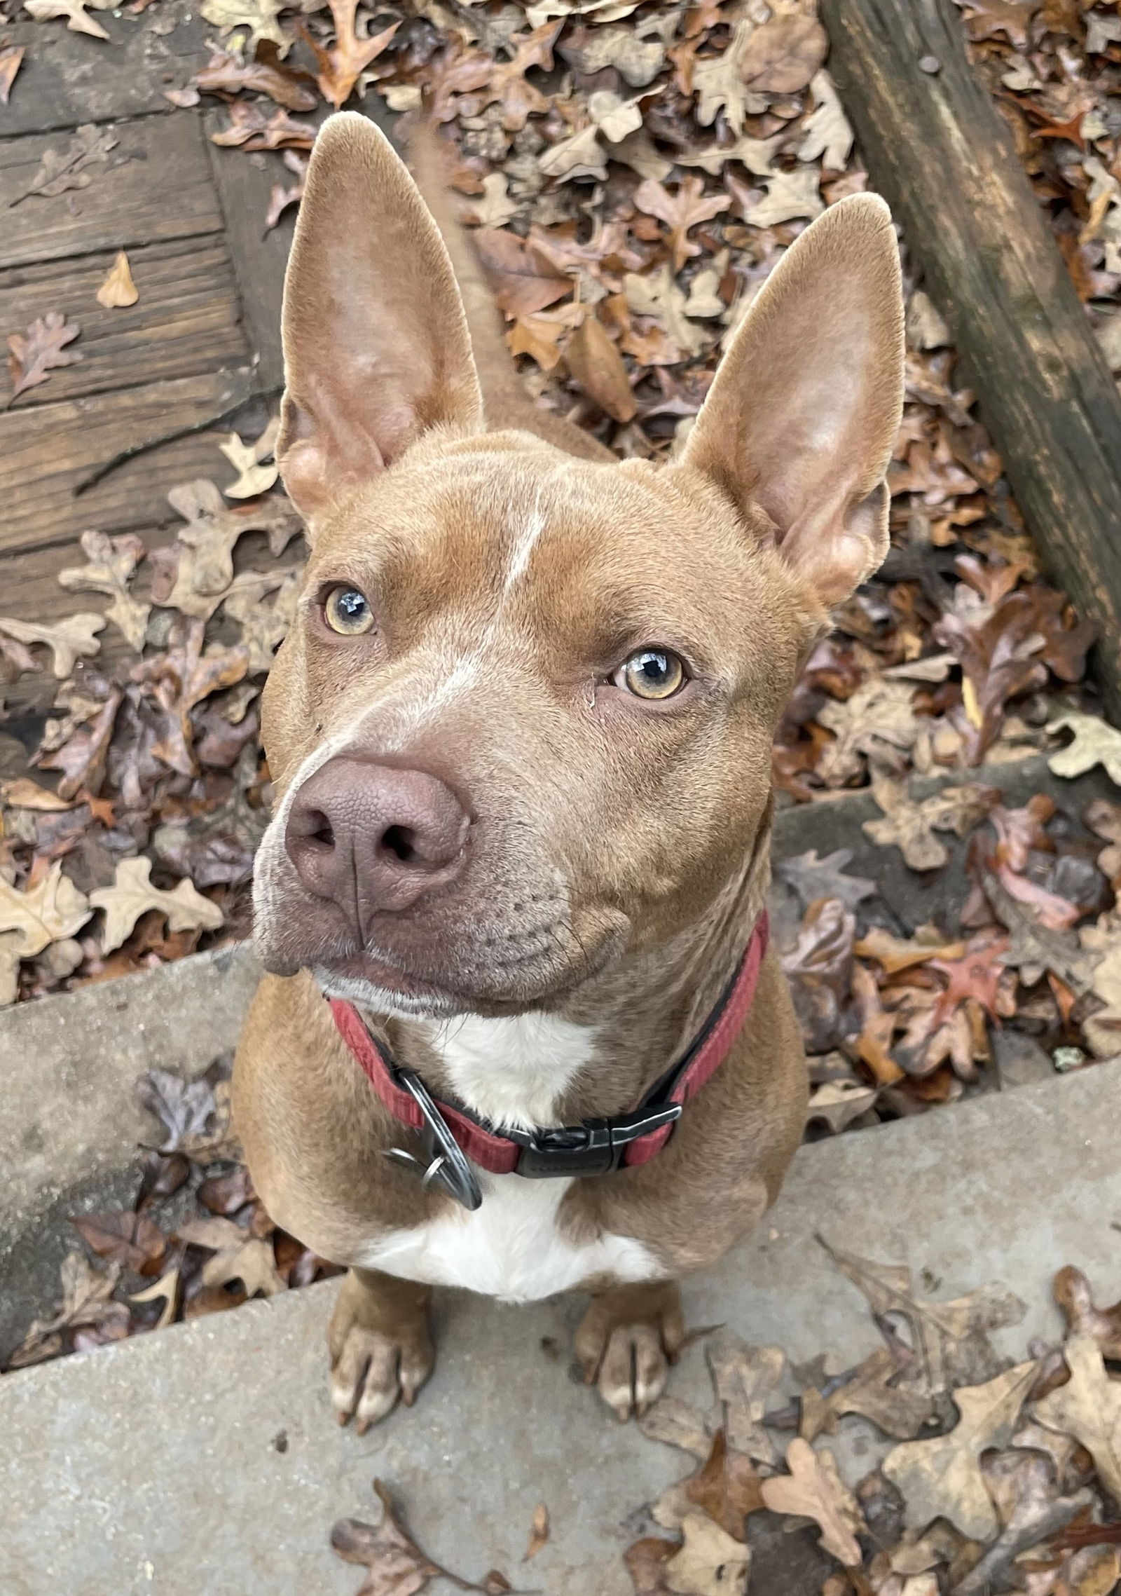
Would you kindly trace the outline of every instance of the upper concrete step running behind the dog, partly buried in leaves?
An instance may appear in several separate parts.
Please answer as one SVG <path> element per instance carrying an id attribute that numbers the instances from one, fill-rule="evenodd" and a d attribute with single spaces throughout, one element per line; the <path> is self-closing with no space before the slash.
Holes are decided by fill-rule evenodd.
<path id="1" fill-rule="evenodd" d="M 960 779 L 914 777 L 912 792 L 923 798 Z M 1067 782 L 1051 776 L 1043 758 L 984 766 L 970 779 L 1000 787 L 1009 806 L 1048 792 L 1072 814 L 1091 798 L 1115 795 L 1102 772 Z M 898 849 L 864 836 L 863 822 L 877 814 L 867 792 L 781 809 L 773 855 L 847 847 L 848 870 L 879 887 L 880 899 L 867 902 L 874 918 L 899 932 L 939 918 L 954 930 L 966 843 L 946 835 L 950 862 L 923 879 Z M 780 945 L 799 918 L 796 894 L 777 881 L 772 919 Z M 134 1101 L 136 1077 L 148 1068 L 193 1076 L 233 1049 L 258 975 L 242 943 L 0 1010 L 0 1365 L 29 1320 L 54 1301 L 72 1245 L 69 1216 L 132 1197 L 137 1143 L 153 1132 Z"/>

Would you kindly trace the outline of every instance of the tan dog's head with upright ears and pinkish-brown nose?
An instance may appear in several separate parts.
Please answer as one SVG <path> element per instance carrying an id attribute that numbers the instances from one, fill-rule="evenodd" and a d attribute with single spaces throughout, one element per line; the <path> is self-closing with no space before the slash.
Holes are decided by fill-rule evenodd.
<path id="1" fill-rule="evenodd" d="M 887 551 L 887 206 L 788 251 L 675 464 L 488 433 L 459 290 L 357 115 L 308 172 L 277 456 L 308 522 L 265 693 L 268 969 L 397 1013 L 550 1005 L 745 871 L 828 608 Z"/>

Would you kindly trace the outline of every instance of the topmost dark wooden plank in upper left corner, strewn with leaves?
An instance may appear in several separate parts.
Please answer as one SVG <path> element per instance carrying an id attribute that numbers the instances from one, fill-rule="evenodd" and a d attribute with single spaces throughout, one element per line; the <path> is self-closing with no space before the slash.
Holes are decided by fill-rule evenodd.
<path id="1" fill-rule="evenodd" d="M 22 16 L 22 14 L 21 14 Z M 144 112 L 171 112 L 169 83 L 185 83 L 206 59 L 203 40 L 212 32 L 196 0 L 159 0 L 140 16 L 96 11 L 108 41 L 72 34 L 61 21 L 5 22 L 3 34 L 27 54 L 0 110 L 0 132 L 45 132 L 80 121 L 108 121 Z"/>

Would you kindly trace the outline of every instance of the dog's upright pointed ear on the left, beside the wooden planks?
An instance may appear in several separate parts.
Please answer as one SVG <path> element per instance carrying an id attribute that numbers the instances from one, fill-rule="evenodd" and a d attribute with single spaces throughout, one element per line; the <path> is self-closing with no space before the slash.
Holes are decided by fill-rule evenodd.
<path id="1" fill-rule="evenodd" d="M 427 428 L 482 426 L 443 239 L 403 161 L 356 112 L 330 117 L 311 152 L 282 338 L 276 458 L 313 522 Z"/>

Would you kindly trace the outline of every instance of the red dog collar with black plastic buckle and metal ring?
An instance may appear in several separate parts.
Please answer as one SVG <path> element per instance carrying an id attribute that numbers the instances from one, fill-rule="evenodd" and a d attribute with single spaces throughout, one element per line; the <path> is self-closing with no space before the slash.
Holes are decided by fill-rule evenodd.
<path id="1" fill-rule="evenodd" d="M 740 967 L 689 1052 L 655 1080 L 630 1114 L 585 1120 L 582 1125 L 534 1132 L 494 1130 L 461 1103 L 435 1101 L 419 1077 L 397 1065 L 370 1036 L 357 1009 L 333 998 L 330 1010 L 340 1036 L 354 1053 L 389 1112 L 411 1130 L 426 1132 L 426 1151 L 446 1146 L 450 1133 L 459 1149 L 491 1175 L 606 1175 L 620 1163 L 649 1163 L 673 1133 L 673 1122 L 684 1104 L 719 1069 L 743 1029 L 756 994 L 759 969 L 767 951 L 767 915 L 745 950 Z M 437 1124 L 440 1122 L 440 1124 Z M 400 1149 L 397 1149 L 400 1154 Z M 454 1148 L 451 1149 L 454 1152 Z M 400 1154 L 411 1159 L 408 1154 Z M 411 1160 L 421 1163 L 421 1160 Z"/>

